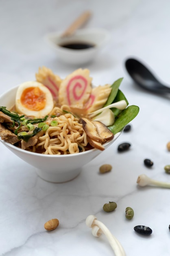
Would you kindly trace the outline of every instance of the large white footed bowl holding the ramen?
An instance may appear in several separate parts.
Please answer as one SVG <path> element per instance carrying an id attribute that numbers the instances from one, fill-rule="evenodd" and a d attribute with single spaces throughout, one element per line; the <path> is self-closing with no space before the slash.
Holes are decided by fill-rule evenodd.
<path id="1" fill-rule="evenodd" d="M 16 91 L 17 87 L 2 94 L 0 96 L 1 106 L 10 109 L 15 103 Z M 105 143 L 105 148 L 108 148 L 120 134 L 121 132 L 118 132 L 111 141 Z M 74 179 L 81 172 L 82 166 L 102 153 L 102 151 L 94 148 L 72 155 L 44 155 L 17 148 L 2 139 L 0 141 L 15 155 L 37 168 L 37 174 L 48 182 L 67 182 Z"/>

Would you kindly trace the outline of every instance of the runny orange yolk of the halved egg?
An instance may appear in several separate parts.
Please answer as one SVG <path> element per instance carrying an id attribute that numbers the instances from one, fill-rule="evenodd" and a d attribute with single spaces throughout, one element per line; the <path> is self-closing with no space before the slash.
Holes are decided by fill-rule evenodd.
<path id="1" fill-rule="evenodd" d="M 21 95 L 21 103 L 33 111 L 42 110 L 46 106 L 46 96 L 38 87 L 26 88 Z"/>

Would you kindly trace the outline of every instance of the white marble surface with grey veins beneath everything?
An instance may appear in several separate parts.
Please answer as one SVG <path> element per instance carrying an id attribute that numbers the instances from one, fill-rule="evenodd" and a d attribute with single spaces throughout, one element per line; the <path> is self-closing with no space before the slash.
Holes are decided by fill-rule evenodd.
<path id="1" fill-rule="evenodd" d="M 58 61 L 44 35 L 65 29 L 84 9 L 93 12 L 86 27 L 102 27 L 112 34 L 107 47 L 86 65 L 94 83 L 112 83 L 123 76 L 121 90 L 130 105 L 140 107 L 139 115 L 131 122 L 131 132 L 84 166 L 75 180 L 63 184 L 41 180 L 33 167 L 0 144 L 0 255 L 114 255 L 105 236 L 95 238 L 85 225 L 86 217 L 94 214 L 118 238 L 127 256 L 169 256 L 170 190 L 139 188 L 136 180 L 145 173 L 170 182 L 163 169 L 170 164 L 170 97 L 137 88 L 124 68 L 124 60 L 134 56 L 170 84 L 168 0 L 1 0 L 1 93 L 35 79 L 42 65 L 60 76 L 75 69 Z M 124 141 L 131 149 L 120 154 L 117 147 Z M 153 168 L 144 166 L 144 158 L 153 160 Z M 104 163 L 113 169 L 99 175 Z M 108 201 L 117 202 L 114 212 L 102 210 Z M 124 216 L 127 206 L 135 212 L 130 221 Z M 48 232 L 44 223 L 51 218 L 58 218 L 60 225 Z M 149 226 L 153 234 L 139 236 L 135 225 Z"/>

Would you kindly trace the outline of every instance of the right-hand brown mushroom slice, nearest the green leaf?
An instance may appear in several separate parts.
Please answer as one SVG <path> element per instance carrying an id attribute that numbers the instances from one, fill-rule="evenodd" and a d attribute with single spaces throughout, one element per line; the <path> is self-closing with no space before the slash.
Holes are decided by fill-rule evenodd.
<path id="1" fill-rule="evenodd" d="M 103 140 L 108 141 L 110 139 L 113 139 L 114 135 L 113 132 L 111 132 L 105 124 L 103 124 L 100 121 L 92 121 L 92 124 L 96 127 L 96 130 L 100 137 L 102 137 Z"/>

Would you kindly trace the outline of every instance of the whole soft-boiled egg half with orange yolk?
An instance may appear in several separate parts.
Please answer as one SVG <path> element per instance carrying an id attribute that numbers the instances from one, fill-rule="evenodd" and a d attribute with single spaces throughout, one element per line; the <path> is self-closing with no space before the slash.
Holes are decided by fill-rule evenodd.
<path id="1" fill-rule="evenodd" d="M 29 81 L 19 85 L 15 108 L 20 114 L 41 118 L 52 111 L 54 101 L 46 86 L 36 81 Z"/>

